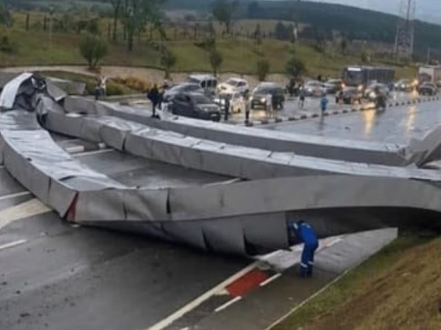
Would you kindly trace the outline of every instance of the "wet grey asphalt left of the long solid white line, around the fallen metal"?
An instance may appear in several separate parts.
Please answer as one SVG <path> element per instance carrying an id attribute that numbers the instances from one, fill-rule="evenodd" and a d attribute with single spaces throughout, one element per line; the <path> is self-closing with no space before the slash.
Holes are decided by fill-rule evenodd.
<path id="1" fill-rule="evenodd" d="M 126 184 L 161 186 L 176 173 L 174 166 L 114 151 L 79 157 Z M 172 184 L 225 179 L 184 172 L 174 174 Z M 74 228 L 34 204 L 0 168 L 0 329 L 147 329 L 250 263 L 143 236 Z M 8 217 L 19 219 L 7 224 Z"/>

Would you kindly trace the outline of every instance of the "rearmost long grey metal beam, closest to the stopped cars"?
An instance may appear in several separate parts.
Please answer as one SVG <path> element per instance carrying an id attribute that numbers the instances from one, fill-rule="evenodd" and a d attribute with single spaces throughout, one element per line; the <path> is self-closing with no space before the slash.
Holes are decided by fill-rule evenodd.
<path id="1" fill-rule="evenodd" d="M 88 102 L 93 101 L 88 100 Z M 237 126 L 233 125 L 178 116 L 164 115 L 162 120 L 156 120 L 150 118 L 150 113 L 146 113 L 141 109 L 108 102 L 99 102 L 99 104 L 103 111 L 101 113 L 147 124 L 156 129 L 192 135 L 200 139 L 279 152 L 295 152 L 299 155 L 309 155 L 311 157 L 342 159 L 349 162 L 368 162 L 393 166 L 409 164 L 409 160 L 402 155 L 403 146 L 396 144 L 353 141 L 258 128 L 240 127 L 240 129 L 237 129 Z M 80 107 L 86 108 L 88 106 L 83 104 L 76 106 L 77 109 Z"/>

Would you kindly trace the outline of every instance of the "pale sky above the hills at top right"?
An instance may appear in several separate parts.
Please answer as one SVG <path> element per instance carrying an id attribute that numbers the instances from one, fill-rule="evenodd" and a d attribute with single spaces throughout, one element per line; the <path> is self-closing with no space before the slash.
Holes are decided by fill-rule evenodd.
<path id="1" fill-rule="evenodd" d="M 342 3 L 356 7 L 398 14 L 400 0 L 314 0 L 319 2 Z M 416 17 L 422 21 L 441 24 L 441 0 L 416 0 Z"/>

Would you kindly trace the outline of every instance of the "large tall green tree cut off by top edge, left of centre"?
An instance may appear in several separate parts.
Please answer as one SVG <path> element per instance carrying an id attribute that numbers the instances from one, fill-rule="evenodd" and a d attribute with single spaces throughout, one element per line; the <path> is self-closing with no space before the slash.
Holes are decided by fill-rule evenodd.
<path id="1" fill-rule="evenodd" d="M 155 28 L 160 19 L 160 5 L 163 0 L 124 0 L 121 13 L 122 23 L 127 34 L 127 50 L 132 52 L 134 36 L 143 30 L 147 23 Z"/>

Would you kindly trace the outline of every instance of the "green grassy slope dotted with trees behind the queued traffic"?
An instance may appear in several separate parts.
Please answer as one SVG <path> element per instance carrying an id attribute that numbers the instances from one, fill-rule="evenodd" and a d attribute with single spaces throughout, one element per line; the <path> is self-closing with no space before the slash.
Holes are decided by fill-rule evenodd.
<path id="1" fill-rule="evenodd" d="M 54 33 L 52 43 L 49 43 L 49 32 L 43 32 L 41 25 L 42 13 L 31 13 L 30 25 L 32 29 L 25 31 L 25 13 L 14 13 L 14 26 L 8 30 L 0 28 L 0 36 L 8 36 L 14 50 L 12 54 L 0 53 L 0 66 L 17 65 L 85 65 L 79 54 L 78 45 L 80 35 L 75 33 Z M 103 37 L 107 37 L 107 25 L 110 19 L 101 20 Z M 257 21 L 240 21 L 240 26 L 251 29 Z M 37 25 L 40 27 L 38 28 Z M 271 29 L 276 21 L 263 21 L 265 29 Z M 119 29 L 121 32 L 121 28 Z M 148 29 L 147 29 L 148 30 Z M 174 36 L 173 30 L 167 30 L 170 37 Z M 192 35 L 192 30 L 189 29 Z M 134 51 L 127 52 L 126 45 L 120 41 L 116 45 L 109 43 L 109 55 L 103 60 L 102 65 L 121 65 L 132 67 L 159 68 L 160 54 L 152 42 L 147 41 L 150 34 L 141 35 L 141 41 L 135 40 Z M 158 43 L 157 33 L 154 33 L 154 42 Z M 177 56 L 177 72 L 211 71 L 207 52 L 195 45 L 196 40 L 172 40 L 165 45 Z M 321 54 L 307 43 L 290 43 L 265 39 L 261 45 L 243 38 L 229 38 L 218 40 L 218 50 L 223 55 L 221 72 L 237 72 L 240 74 L 255 74 L 256 63 L 261 57 L 267 58 L 271 72 L 284 73 L 285 63 L 291 53 L 304 61 L 309 76 L 340 76 L 345 65 L 359 63 L 359 56 L 342 56 L 338 51 L 328 51 Z M 372 64 L 381 65 L 374 61 Z M 415 69 L 412 67 L 397 67 L 398 78 L 413 76 Z"/>

